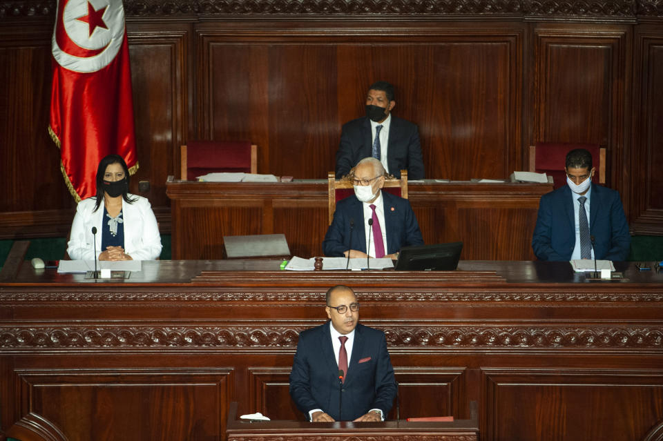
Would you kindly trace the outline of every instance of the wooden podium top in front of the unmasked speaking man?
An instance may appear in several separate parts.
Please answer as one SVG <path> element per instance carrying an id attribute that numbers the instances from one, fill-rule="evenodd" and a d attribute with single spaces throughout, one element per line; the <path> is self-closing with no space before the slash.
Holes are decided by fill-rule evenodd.
<path id="1" fill-rule="evenodd" d="M 226 437 L 228 441 L 279 440 L 371 440 L 407 441 L 477 441 L 479 418 L 477 402 L 470 403 L 471 419 L 453 422 L 304 422 L 275 420 L 251 422 L 237 419 L 237 402 L 231 402 L 228 411 Z"/>

